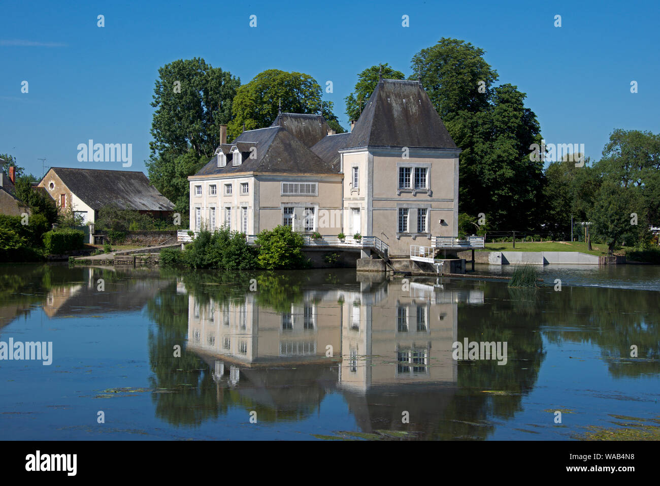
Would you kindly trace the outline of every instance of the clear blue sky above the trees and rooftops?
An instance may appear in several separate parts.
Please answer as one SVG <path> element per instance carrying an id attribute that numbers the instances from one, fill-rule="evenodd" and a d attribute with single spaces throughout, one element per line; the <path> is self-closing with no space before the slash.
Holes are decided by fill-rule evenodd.
<path id="1" fill-rule="evenodd" d="M 546 143 L 584 143 L 598 159 L 614 128 L 660 132 L 657 1 L 3 1 L 0 11 L 0 153 L 36 176 L 38 158 L 121 170 L 78 162 L 88 139 L 132 143 L 128 170 L 146 173 L 154 81 L 176 59 L 203 57 L 243 84 L 273 68 L 333 81 L 324 99 L 347 127 L 343 99 L 360 71 L 387 62 L 409 75 L 411 57 L 442 37 L 486 51 L 498 83 L 527 93 Z"/>

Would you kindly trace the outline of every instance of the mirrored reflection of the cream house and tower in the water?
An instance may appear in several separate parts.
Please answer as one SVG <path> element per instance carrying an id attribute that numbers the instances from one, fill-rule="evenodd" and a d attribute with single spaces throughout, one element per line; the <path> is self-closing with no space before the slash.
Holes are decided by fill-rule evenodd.
<path id="1" fill-rule="evenodd" d="M 187 349 L 209 365 L 220 401 L 235 390 L 300 416 L 334 392 L 362 431 L 401 429 L 409 411 L 409 430 L 432 433 L 457 389 L 459 302 L 483 304 L 483 292 L 360 275 L 304 289 L 282 312 L 260 305 L 257 293 L 203 302 L 191 292 Z"/>

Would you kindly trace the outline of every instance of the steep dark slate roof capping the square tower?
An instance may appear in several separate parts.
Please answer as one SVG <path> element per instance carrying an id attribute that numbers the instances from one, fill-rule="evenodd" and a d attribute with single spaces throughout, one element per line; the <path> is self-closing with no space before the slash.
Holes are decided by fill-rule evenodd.
<path id="1" fill-rule="evenodd" d="M 457 148 L 417 81 L 382 79 L 350 135 L 347 147 Z"/>

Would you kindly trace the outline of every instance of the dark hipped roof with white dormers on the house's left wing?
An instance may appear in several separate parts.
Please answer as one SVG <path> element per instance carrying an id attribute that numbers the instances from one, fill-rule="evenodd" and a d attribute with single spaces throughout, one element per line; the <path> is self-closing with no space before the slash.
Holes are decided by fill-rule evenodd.
<path id="1" fill-rule="evenodd" d="M 242 142 L 245 142 L 244 144 Z M 317 172 L 320 174 L 336 173 L 332 164 L 321 160 L 288 130 L 276 125 L 244 131 L 236 139 L 226 144 L 242 147 L 255 147 L 255 158 L 250 152 L 242 152 L 242 164 L 232 166 L 232 156 L 227 157 L 227 164 L 218 167 L 218 157 L 214 156 L 195 176 L 224 176 L 236 172 Z M 224 146 L 222 147 L 224 152 Z"/>

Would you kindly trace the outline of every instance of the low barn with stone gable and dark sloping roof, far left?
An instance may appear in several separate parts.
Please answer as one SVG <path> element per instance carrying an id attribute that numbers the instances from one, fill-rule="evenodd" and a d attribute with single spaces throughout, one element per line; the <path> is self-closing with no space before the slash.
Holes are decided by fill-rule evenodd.
<path id="1" fill-rule="evenodd" d="M 174 211 L 174 204 L 142 172 L 51 167 L 38 187 L 48 192 L 60 211 L 71 208 L 81 214 L 84 224 L 94 223 L 96 211 L 108 205 L 154 217 Z"/>

